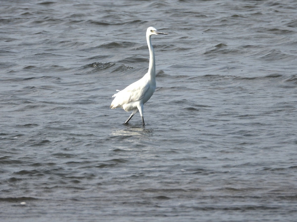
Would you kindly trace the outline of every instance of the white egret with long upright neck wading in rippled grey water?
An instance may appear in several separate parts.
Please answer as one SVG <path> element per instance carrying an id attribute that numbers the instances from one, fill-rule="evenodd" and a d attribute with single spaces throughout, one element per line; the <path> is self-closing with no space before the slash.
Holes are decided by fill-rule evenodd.
<path id="1" fill-rule="evenodd" d="M 156 89 L 156 63 L 154 48 L 151 44 L 151 36 L 159 34 L 168 35 L 167 33 L 158 31 L 154 27 L 149 27 L 146 30 L 146 41 L 149 46 L 149 71 L 140 80 L 127 86 L 122 91 L 116 90 L 119 92 L 112 96 L 116 98 L 111 102 L 110 108 L 121 107 L 126 112 L 133 110 L 130 117 L 123 124 L 127 124 L 132 116 L 139 111 L 142 125 L 144 125 L 143 104 L 151 98 Z"/>

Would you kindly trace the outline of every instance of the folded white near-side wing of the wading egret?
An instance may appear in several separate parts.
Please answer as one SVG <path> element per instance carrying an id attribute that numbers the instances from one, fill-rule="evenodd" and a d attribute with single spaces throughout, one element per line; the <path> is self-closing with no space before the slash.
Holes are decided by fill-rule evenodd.
<path id="1" fill-rule="evenodd" d="M 141 84 L 140 80 L 127 86 L 122 91 L 114 94 L 113 102 L 110 108 L 114 109 L 116 107 L 122 106 L 123 104 L 128 104 L 129 102 L 138 101 L 143 98 L 146 91 L 149 89 L 149 84 Z"/>

